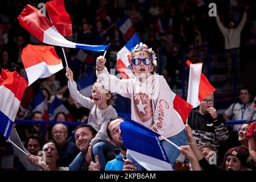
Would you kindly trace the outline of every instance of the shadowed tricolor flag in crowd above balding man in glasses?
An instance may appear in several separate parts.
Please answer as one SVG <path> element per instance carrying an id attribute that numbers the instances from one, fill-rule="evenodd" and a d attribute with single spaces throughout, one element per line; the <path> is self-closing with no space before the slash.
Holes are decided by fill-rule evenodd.
<path id="1" fill-rule="evenodd" d="M 57 113 L 63 112 L 65 113 L 67 118 L 73 118 L 69 110 L 62 104 L 62 102 L 55 96 L 54 100 L 52 101 L 51 105 L 49 106 L 49 119 L 53 120 Z M 70 120 L 70 119 L 67 119 Z"/>

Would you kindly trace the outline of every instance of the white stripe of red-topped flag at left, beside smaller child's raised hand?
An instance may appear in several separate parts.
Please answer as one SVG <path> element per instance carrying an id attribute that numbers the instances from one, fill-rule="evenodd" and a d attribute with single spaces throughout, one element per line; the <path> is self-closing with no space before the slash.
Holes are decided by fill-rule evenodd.
<path id="1" fill-rule="evenodd" d="M 43 69 L 46 68 L 46 69 Z M 63 64 L 57 65 L 47 65 L 46 62 L 41 62 L 39 64 L 32 65 L 32 67 L 26 68 L 27 78 L 28 78 L 28 86 L 30 86 L 33 82 L 38 80 L 38 78 L 46 78 L 54 73 L 63 69 Z"/>

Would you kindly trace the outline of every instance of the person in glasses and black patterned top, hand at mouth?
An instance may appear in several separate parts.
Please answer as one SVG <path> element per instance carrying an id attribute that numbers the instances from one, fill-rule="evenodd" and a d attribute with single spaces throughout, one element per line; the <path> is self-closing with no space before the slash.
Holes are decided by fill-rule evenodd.
<path id="1" fill-rule="evenodd" d="M 192 109 L 188 117 L 188 125 L 191 126 L 193 137 L 198 146 L 209 145 L 218 150 L 220 142 L 229 138 L 224 119 L 218 117 L 214 106 L 214 95 L 208 97 L 200 105 Z"/>

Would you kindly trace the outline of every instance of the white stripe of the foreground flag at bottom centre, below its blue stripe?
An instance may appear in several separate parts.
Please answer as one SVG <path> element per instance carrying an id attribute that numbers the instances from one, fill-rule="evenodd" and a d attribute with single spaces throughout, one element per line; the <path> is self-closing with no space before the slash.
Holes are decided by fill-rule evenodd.
<path id="1" fill-rule="evenodd" d="M 163 160 L 152 158 L 133 150 L 129 150 L 129 154 L 147 171 L 173 171 L 171 164 Z"/>

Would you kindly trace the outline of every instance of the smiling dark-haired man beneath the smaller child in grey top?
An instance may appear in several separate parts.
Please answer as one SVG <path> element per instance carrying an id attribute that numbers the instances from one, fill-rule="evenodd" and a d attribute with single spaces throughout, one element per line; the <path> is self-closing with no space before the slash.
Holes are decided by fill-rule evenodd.
<path id="1" fill-rule="evenodd" d="M 97 131 L 90 125 L 79 125 L 75 129 L 75 142 L 77 148 L 81 151 L 79 155 L 69 165 L 69 171 L 88 171 L 89 165 L 86 163 L 86 154 L 88 152 L 90 141 L 96 136 Z M 92 156 L 93 157 L 93 156 Z M 93 163 L 93 162 L 91 162 Z"/>

